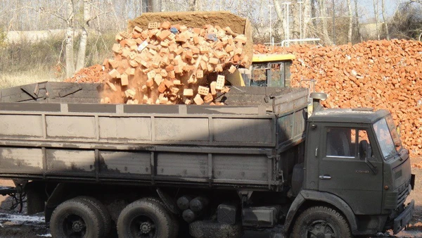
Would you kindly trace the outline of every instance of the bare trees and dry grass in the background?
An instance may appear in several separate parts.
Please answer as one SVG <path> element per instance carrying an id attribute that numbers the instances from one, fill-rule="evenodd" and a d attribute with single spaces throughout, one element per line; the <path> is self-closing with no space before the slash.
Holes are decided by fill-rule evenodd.
<path id="1" fill-rule="evenodd" d="M 3 0 L 0 87 L 63 80 L 102 63 L 127 20 L 146 11 L 231 11 L 251 21 L 254 42 L 261 44 L 269 44 L 270 35 L 274 43 L 316 37 L 326 45 L 420 40 L 422 1 L 386 1 Z"/>

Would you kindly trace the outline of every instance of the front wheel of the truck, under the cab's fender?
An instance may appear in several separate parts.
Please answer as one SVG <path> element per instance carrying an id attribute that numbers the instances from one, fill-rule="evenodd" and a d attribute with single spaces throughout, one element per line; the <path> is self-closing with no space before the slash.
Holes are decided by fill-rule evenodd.
<path id="1" fill-rule="evenodd" d="M 352 237 L 347 220 L 333 208 L 314 206 L 299 215 L 293 226 L 292 238 Z"/>

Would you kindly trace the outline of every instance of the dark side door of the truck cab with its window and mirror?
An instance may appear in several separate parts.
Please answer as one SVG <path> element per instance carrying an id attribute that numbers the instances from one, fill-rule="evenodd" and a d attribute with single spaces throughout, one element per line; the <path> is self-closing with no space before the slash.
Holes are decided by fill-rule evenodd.
<path id="1" fill-rule="evenodd" d="M 381 212 L 383 163 L 372 155 L 370 131 L 324 127 L 320 142 L 319 190 L 339 196 L 357 215 Z"/>

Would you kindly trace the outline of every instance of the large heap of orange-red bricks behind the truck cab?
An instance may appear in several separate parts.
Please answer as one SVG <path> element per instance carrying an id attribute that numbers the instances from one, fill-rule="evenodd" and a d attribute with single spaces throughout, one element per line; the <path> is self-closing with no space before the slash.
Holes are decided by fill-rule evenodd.
<path id="1" fill-rule="evenodd" d="M 340 46 L 254 46 L 255 54 L 295 54 L 292 85 L 316 80 L 328 108 L 388 109 L 412 154 L 422 154 L 422 42 L 369 41 Z M 301 82 L 302 80 L 302 82 Z"/>

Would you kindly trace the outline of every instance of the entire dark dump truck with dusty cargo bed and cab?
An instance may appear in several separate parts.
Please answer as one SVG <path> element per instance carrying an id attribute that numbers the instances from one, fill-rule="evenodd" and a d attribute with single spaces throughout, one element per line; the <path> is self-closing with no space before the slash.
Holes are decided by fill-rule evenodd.
<path id="1" fill-rule="evenodd" d="M 53 237 L 352 237 L 411 220 L 390 112 L 307 88 L 231 87 L 224 106 L 99 104 L 100 84 L 0 90 L 0 177 Z M 22 196 L 15 196 L 22 197 Z"/>

